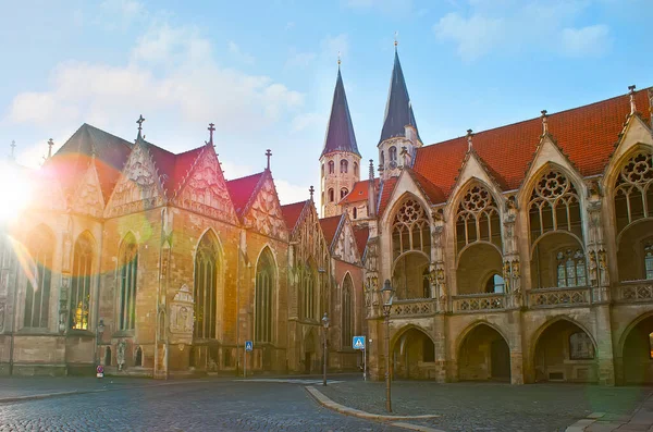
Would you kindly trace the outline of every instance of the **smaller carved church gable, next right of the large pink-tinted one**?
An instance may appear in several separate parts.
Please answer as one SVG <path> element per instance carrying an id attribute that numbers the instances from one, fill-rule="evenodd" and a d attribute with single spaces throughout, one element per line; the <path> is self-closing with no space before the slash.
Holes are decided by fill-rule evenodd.
<path id="1" fill-rule="evenodd" d="M 282 240 L 288 238 L 274 181 L 268 170 L 263 171 L 254 195 L 243 209 L 243 223 L 260 234 Z"/>

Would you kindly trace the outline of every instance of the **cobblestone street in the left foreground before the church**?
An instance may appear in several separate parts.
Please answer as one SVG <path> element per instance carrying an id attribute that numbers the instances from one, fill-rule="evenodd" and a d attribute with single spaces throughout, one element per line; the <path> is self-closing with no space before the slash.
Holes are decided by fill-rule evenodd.
<path id="1" fill-rule="evenodd" d="M 212 380 L 0 404 L 2 432 L 153 430 L 405 431 L 322 408 L 287 383 Z"/>

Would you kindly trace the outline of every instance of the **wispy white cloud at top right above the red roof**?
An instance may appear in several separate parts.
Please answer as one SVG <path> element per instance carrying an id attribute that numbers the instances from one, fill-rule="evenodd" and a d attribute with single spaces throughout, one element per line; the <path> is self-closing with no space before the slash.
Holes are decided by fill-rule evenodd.
<path id="1" fill-rule="evenodd" d="M 611 48 L 608 27 L 574 25 L 577 20 L 587 18 L 584 12 L 591 3 L 591 0 L 468 0 L 466 12 L 445 14 L 433 32 L 440 41 L 453 41 L 465 61 L 497 51 L 600 55 Z"/>

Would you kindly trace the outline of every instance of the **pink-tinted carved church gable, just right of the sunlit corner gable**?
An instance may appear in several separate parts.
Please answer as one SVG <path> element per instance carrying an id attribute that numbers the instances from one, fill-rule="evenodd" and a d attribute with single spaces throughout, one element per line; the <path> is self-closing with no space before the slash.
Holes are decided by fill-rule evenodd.
<path id="1" fill-rule="evenodd" d="M 177 155 L 173 201 L 183 208 L 236 224 L 234 205 L 212 146 Z"/>

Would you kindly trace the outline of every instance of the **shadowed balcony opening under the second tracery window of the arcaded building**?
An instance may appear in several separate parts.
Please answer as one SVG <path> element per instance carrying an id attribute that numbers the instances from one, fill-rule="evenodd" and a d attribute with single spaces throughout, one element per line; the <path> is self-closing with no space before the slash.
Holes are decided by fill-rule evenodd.
<path id="1" fill-rule="evenodd" d="M 496 245 L 477 242 L 461 252 L 456 262 L 456 294 L 484 293 L 488 274 L 503 274 L 503 255 Z"/>

